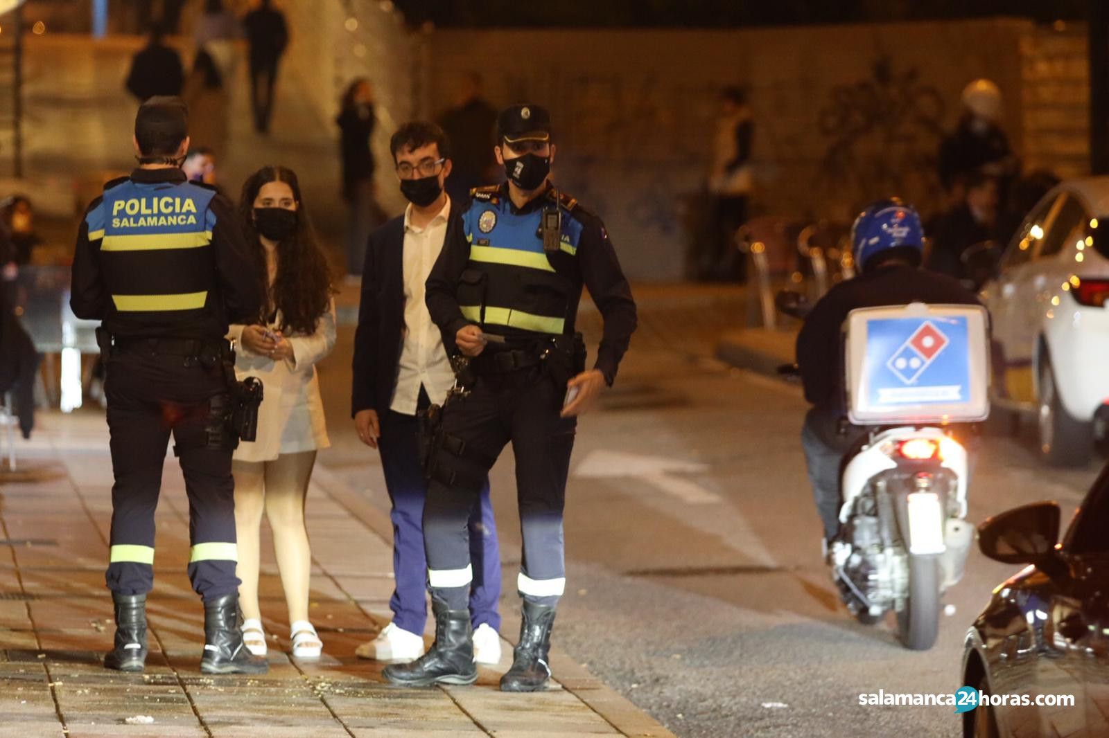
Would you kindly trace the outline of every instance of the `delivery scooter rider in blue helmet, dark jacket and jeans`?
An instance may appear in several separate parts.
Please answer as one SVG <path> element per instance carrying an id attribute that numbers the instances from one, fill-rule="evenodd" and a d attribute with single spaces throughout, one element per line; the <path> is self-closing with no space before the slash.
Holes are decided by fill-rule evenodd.
<path id="1" fill-rule="evenodd" d="M 841 329 L 856 308 L 925 303 L 978 305 L 956 279 L 919 268 L 924 229 L 917 212 L 896 197 L 868 205 L 851 229 L 857 277 L 840 283 L 805 317 L 797 336 L 797 365 L 805 399 L 801 444 L 813 498 L 824 526 L 825 551 L 840 527 L 840 469 L 862 429 L 845 420 Z M 828 367 L 836 367 L 828 371 Z"/>

